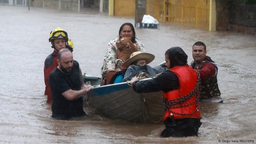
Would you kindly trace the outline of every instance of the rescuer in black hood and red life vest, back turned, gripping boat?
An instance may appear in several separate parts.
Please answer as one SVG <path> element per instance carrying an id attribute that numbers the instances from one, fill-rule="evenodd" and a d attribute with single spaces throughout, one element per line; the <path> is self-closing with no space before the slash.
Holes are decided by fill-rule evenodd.
<path id="1" fill-rule="evenodd" d="M 187 58 L 180 47 L 172 47 L 165 52 L 165 65 L 169 70 L 151 80 L 138 81 L 135 76 L 130 82 L 138 93 L 163 91 L 165 129 L 161 137 L 197 136 L 202 124 L 200 74 L 187 64 Z"/>

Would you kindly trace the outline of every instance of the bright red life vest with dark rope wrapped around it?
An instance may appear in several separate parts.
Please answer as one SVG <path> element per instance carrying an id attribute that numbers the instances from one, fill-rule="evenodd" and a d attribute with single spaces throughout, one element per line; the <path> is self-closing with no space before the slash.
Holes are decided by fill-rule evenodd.
<path id="1" fill-rule="evenodd" d="M 163 98 L 168 101 L 172 101 L 177 98 L 181 98 L 189 94 L 195 87 L 197 83 L 197 73 L 195 70 L 188 66 L 178 66 L 170 69 L 173 73 L 175 73 L 179 79 L 180 86 L 177 90 L 163 92 Z M 163 120 L 166 120 L 167 117 L 171 117 L 171 113 L 173 114 L 175 119 L 179 118 L 201 118 L 199 104 L 197 104 L 196 95 L 194 94 L 190 99 L 183 103 L 176 103 L 169 110 L 165 110 L 165 116 Z M 192 104 L 191 104 L 192 103 Z M 191 105 L 189 105 L 191 104 Z M 187 106 L 186 106 L 187 105 Z"/>

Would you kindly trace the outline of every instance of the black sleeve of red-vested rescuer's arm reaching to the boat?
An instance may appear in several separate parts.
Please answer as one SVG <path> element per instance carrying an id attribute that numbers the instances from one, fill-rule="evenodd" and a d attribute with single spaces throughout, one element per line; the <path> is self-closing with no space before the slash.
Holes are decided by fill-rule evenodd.
<path id="1" fill-rule="evenodd" d="M 136 81 L 132 84 L 133 90 L 138 93 L 154 91 L 172 91 L 179 87 L 178 77 L 171 71 L 165 71 L 155 79 Z"/>

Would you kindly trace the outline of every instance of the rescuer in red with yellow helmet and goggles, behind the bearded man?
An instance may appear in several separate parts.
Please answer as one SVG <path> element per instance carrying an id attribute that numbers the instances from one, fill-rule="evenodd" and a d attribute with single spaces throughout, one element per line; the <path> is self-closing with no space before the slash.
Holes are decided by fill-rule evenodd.
<path id="1" fill-rule="evenodd" d="M 57 53 L 64 48 L 68 48 L 73 52 L 73 42 L 68 38 L 66 31 L 57 27 L 50 32 L 49 42 L 52 44 L 53 52 L 45 59 L 44 62 L 44 80 L 45 80 L 45 92 L 44 95 L 47 95 L 47 103 L 52 103 L 52 93 L 49 85 L 49 76 L 50 73 L 55 69 L 59 64 L 57 63 Z M 85 87 L 85 84 L 82 80 L 82 72 L 80 72 L 80 81 L 82 87 Z"/>

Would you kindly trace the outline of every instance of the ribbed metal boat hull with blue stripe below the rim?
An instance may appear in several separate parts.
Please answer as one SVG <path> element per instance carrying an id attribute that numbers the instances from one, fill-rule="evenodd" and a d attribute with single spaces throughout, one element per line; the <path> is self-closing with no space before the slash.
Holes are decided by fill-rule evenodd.
<path id="1" fill-rule="evenodd" d="M 159 123 L 165 112 L 161 91 L 139 94 L 125 82 L 95 87 L 87 96 L 88 106 L 110 119 Z"/>

